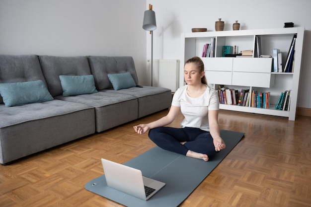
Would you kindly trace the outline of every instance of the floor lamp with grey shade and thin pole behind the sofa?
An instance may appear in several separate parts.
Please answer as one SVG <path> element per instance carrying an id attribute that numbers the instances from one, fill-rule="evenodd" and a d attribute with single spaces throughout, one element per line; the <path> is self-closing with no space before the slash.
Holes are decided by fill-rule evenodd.
<path id="1" fill-rule="evenodd" d="M 153 86 L 153 52 L 154 52 L 154 33 L 156 29 L 156 13 L 152 10 L 152 5 L 149 4 L 149 10 L 144 13 L 143 29 L 150 31 L 151 34 L 151 86 Z"/>

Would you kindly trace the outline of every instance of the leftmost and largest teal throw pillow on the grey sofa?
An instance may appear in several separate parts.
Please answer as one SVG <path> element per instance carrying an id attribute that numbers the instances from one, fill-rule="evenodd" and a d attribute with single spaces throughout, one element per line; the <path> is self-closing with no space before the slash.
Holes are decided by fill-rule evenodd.
<path id="1" fill-rule="evenodd" d="M 5 107 L 51 101 L 54 99 L 42 80 L 0 83 L 0 94 Z"/>

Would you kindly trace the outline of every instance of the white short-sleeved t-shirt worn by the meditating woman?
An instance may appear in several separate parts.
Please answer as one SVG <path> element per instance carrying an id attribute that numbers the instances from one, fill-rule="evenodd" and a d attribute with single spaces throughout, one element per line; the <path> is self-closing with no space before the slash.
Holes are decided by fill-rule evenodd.
<path id="1" fill-rule="evenodd" d="M 218 94 L 207 86 L 201 96 L 192 98 L 187 94 L 187 86 L 178 88 L 172 100 L 172 105 L 180 107 L 180 111 L 184 115 L 181 128 L 192 127 L 209 132 L 208 111 L 219 110 Z"/>

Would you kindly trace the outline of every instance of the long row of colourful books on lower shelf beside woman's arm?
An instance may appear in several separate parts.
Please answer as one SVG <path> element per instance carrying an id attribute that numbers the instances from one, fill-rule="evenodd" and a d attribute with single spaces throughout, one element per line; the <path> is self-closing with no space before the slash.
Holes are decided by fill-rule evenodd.
<path id="1" fill-rule="evenodd" d="M 258 92 L 256 90 L 221 88 L 217 90 L 221 104 L 256 107 L 268 109 L 270 107 L 270 92 Z"/>

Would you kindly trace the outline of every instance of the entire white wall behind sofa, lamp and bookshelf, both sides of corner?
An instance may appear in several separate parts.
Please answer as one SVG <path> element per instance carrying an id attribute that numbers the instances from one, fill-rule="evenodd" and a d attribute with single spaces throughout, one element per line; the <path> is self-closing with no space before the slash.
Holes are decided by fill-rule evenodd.
<path id="1" fill-rule="evenodd" d="M 311 108 L 310 0 L 0 0 L 0 54 L 132 56 L 140 84 L 148 85 L 151 35 L 142 23 L 149 3 L 157 21 L 154 59 L 180 59 L 180 33 L 213 31 L 218 18 L 225 30 L 235 20 L 240 29 L 304 26 L 298 107 Z"/>

